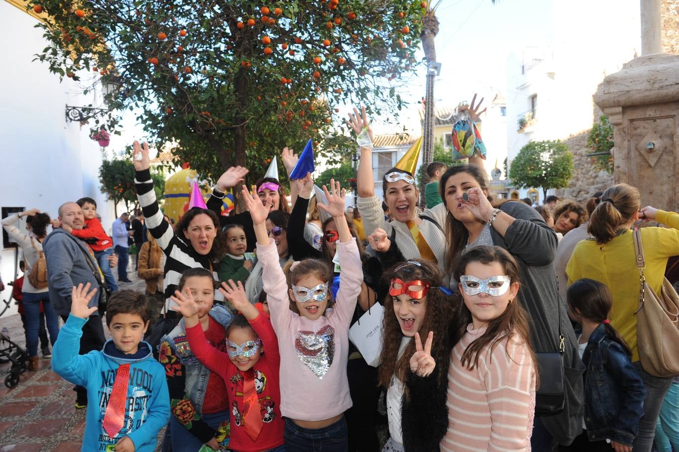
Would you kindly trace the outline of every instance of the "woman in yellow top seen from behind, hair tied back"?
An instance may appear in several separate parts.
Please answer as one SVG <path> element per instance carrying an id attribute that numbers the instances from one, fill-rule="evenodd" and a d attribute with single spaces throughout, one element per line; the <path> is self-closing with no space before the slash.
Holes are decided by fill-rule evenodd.
<path id="1" fill-rule="evenodd" d="M 657 378 L 644 372 L 639 362 L 636 337 L 636 316 L 639 293 L 639 271 L 634 254 L 631 227 L 637 221 L 657 221 L 664 227 L 641 229 L 648 285 L 657 293 L 667 266 L 667 258 L 679 255 L 679 214 L 665 212 L 651 206 L 639 209 L 641 196 L 638 189 L 627 184 L 610 187 L 601 197 L 601 203 L 592 212 L 587 231 L 592 236 L 576 245 L 568 261 L 568 284 L 581 278 L 591 278 L 610 288 L 613 308 L 610 324 L 619 331 L 632 350 L 632 362 L 644 381 L 646 398 L 644 416 L 634 440 L 634 452 L 650 452 L 655 436 L 661 404 L 672 378 Z M 625 403 L 621 400 L 620 403 Z"/>

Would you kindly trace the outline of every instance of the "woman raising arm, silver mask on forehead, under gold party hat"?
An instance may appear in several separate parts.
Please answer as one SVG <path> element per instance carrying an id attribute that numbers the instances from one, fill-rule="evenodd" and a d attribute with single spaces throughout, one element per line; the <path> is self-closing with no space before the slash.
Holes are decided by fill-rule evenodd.
<path id="1" fill-rule="evenodd" d="M 418 215 L 416 204 L 420 192 L 415 185 L 413 174 L 392 168 L 382 179 L 384 202 L 394 216 L 392 221 L 387 222 L 384 219 L 382 201 L 375 195 L 371 144 L 373 132 L 368 123 L 365 107 L 361 109 L 361 114 L 354 109 L 354 114 L 349 115 L 346 123 L 360 139 L 361 160 L 356 177 L 356 189 L 359 193 L 358 206 L 365 230 L 372 232 L 378 228 L 384 229 L 389 236 L 394 237 L 406 259 L 426 259 L 443 269 L 445 206 L 439 204 Z"/>

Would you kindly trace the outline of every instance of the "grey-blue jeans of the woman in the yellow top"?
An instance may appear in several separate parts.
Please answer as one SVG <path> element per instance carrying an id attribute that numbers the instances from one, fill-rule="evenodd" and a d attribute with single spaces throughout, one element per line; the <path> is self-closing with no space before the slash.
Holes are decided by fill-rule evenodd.
<path id="1" fill-rule="evenodd" d="M 672 385 L 672 378 L 658 378 L 653 375 L 648 375 L 642 369 L 641 362 L 634 362 L 639 372 L 639 376 L 644 381 L 644 389 L 646 390 L 646 398 L 644 398 L 644 415 L 639 421 L 639 432 L 634 438 L 634 445 L 632 449 L 634 452 L 650 452 L 653 447 L 653 437 L 655 436 L 655 425 L 660 414 L 660 407 L 665 400 L 665 394 Z"/>

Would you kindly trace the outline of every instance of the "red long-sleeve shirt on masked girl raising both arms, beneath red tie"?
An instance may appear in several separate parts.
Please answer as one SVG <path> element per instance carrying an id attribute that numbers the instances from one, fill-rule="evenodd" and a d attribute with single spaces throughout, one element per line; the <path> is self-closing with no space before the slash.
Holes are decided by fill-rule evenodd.
<path id="1" fill-rule="evenodd" d="M 205 339 L 200 324 L 186 329 L 191 351 L 210 371 L 221 376 L 226 384 L 231 411 L 231 440 L 229 447 L 241 452 L 266 451 L 283 444 L 283 419 L 280 415 L 280 385 L 278 370 L 280 354 L 278 339 L 268 318 L 261 313 L 250 325 L 259 335 L 263 346 L 261 354 L 253 369 L 255 370 L 255 388 L 259 397 L 259 409 L 263 426 L 256 441 L 245 432 L 242 424 L 243 414 L 243 373 L 231 362 L 229 354 L 220 352 Z"/>

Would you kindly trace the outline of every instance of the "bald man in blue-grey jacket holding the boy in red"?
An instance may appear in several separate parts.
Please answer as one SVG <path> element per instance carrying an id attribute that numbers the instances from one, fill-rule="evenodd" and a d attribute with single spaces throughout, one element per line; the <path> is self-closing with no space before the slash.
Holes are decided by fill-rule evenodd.
<path id="1" fill-rule="evenodd" d="M 82 229 L 85 225 L 83 212 L 75 202 L 67 202 L 59 208 L 58 221 L 73 229 Z M 45 259 L 47 261 L 47 274 L 50 286 L 50 301 L 54 310 L 64 320 L 71 312 L 71 293 L 73 286 L 78 284 L 91 284 L 98 291 L 90 301 L 90 307 L 99 304 L 100 285 L 94 271 L 100 271 L 94 259 L 92 250 L 88 244 L 79 240 L 71 233 L 60 227 L 55 228 L 43 242 Z M 112 259 L 111 267 L 115 267 L 117 259 Z M 94 269 L 94 271 L 93 271 Z M 94 312 L 88 322 L 83 326 L 83 335 L 80 338 L 80 352 L 84 355 L 92 350 L 101 350 L 106 341 L 101 316 Z M 77 409 L 87 406 L 87 391 L 81 386 L 75 387 Z"/>

